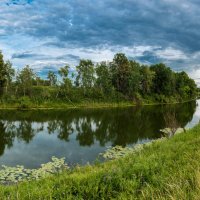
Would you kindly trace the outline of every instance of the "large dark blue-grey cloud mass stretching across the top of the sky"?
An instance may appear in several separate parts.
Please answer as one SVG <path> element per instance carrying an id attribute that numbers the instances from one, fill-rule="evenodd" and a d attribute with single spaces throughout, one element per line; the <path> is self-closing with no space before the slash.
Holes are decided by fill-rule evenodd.
<path id="1" fill-rule="evenodd" d="M 12 31 L 58 46 L 171 45 L 193 52 L 200 46 L 199 7 L 195 0 L 35 0 Z"/>

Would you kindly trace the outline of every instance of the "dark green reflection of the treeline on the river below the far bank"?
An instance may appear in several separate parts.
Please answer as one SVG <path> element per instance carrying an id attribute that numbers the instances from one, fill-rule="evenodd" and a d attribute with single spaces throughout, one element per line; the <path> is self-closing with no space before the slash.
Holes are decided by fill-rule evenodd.
<path id="1" fill-rule="evenodd" d="M 101 146 L 108 142 L 125 146 L 141 139 L 160 137 L 158 130 L 165 127 L 166 111 L 174 110 L 181 126 L 185 126 L 192 120 L 195 108 L 196 103 L 191 102 L 142 108 L 16 112 L 15 118 L 12 112 L 6 111 L 0 113 L 0 155 L 6 147 L 12 147 L 15 138 L 29 143 L 40 131 L 57 134 L 66 142 L 71 134 L 76 134 L 81 146 L 95 142 Z"/>

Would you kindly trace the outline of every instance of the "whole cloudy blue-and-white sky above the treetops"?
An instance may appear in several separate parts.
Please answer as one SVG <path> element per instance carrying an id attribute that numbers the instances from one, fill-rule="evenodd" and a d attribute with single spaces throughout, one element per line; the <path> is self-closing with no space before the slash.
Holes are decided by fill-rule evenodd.
<path id="1" fill-rule="evenodd" d="M 0 0 L 0 50 L 15 68 L 49 70 L 122 52 L 200 85 L 199 0 Z"/>

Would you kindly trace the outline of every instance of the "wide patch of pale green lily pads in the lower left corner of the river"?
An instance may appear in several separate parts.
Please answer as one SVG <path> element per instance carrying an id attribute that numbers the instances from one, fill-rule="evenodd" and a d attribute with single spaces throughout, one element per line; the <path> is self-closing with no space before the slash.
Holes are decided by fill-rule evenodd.
<path id="1" fill-rule="evenodd" d="M 27 180 L 38 180 L 51 174 L 69 169 L 65 158 L 52 157 L 52 161 L 42 164 L 39 169 L 25 169 L 24 166 L 8 167 L 3 165 L 0 170 L 0 184 L 9 185 Z"/>

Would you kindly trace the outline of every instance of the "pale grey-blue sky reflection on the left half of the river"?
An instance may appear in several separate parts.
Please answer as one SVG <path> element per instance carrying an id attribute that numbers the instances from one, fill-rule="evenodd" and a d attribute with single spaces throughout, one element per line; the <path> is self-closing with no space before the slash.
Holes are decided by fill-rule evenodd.
<path id="1" fill-rule="evenodd" d="M 84 122 L 84 119 L 80 120 L 80 124 Z M 13 123 L 17 128 L 20 122 Z M 42 127 L 42 128 L 41 128 Z M 75 163 L 86 164 L 87 162 L 94 161 L 100 152 L 103 152 L 106 147 L 111 146 L 110 142 L 107 142 L 105 147 L 99 145 L 97 140 L 94 140 L 92 146 L 80 146 L 76 137 L 78 131 L 76 126 L 72 123 L 73 134 L 69 135 L 69 141 L 58 140 L 58 130 L 55 130 L 51 134 L 47 134 L 48 123 L 32 123 L 33 130 L 37 130 L 37 134 L 30 143 L 20 141 L 18 138 L 14 140 L 14 148 L 8 148 L 5 150 L 3 158 L 0 158 L 0 165 L 5 164 L 8 166 L 15 166 L 16 163 L 24 165 L 26 167 L 34 168 L 39 167 L 39 164 L 48 162 L 52 156 L 58 158 L 65 157 L 66 162 L 69 165 Z M 92 131 L 96 130 L 96 124 L 91 123 Z M 39 130 L 39 131 L 38 131 Z M 41 130 L 41 131 L 40 131 Z M 31 155 L 31 157 L 30 157 Z"/>

